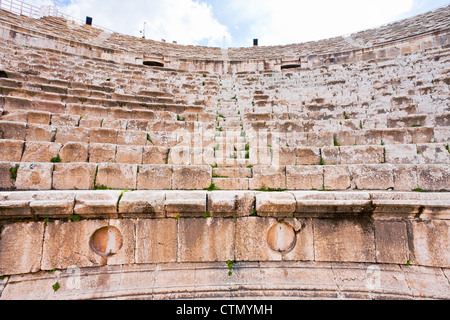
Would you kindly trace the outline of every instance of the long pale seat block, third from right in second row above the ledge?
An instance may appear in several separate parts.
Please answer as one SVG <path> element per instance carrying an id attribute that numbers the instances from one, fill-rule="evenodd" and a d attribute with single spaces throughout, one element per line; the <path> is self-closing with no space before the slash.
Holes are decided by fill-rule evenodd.
<path id="1" fill-rule="evenodd" d="M 342 146 L 341 164 L 379 164 L 384 161 L 382 146 Z"/>

